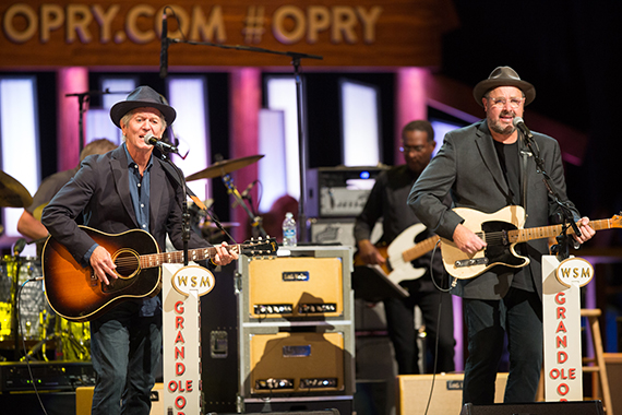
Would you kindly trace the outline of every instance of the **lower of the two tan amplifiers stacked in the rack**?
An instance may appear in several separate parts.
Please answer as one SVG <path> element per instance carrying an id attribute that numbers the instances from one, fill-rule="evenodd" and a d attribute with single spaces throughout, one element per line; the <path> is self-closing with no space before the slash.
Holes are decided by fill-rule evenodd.
<path id="1" fill-rule="evenodd" d="M 250 335 L 251 394 L 344 390 L 344 334 L 288 333 Z"/>

